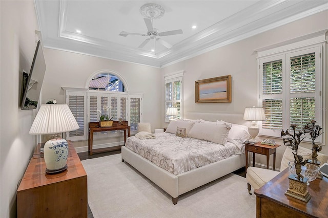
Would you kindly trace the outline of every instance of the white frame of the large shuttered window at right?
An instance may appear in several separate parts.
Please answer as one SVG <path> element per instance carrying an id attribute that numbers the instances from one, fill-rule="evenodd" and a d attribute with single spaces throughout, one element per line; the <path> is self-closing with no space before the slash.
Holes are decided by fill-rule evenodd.
<path id="1" fill-rule="evenodd" d="M 286 42 L 285 45 L 270 48 L 258 49 L 258 105 L 262 105 L 263 93 L 262 93 L 262 82 L 263 82 L 263 63 L 282 59 L 282 94 L 272 95 L 275 97 L 283 96 L 282 102 L 282 129 L 288 129 L 290 127 L 290 99 L 292 96 L 306 97 L 309 94 L 304 93 L 291 93 L 290 92 L 290 58 L 301 54 L 310 54 L 315 52 L 316 56 L 316 91 L 314 97 L 316 99 L 316 121 L 317 124 L 324 128 L 325 125 L 325 38 L 323 35 L 317 37 L 310 37 L 306 40 L 301 40 L 293 43 Z M 310 95 L 311 96 L 311 95 Z M 301 127 L 303 128 L 303 126 Z M 262 136 L 279 137 L 280 130 L 267 130 L 262 128 L 262 122 L 260 122 L 260 134 Z M 310 140 L 311 141 L 311 140 Z M 320 136 L 316 140 L 318 143 L 324 143 L 324 137 Z"/>

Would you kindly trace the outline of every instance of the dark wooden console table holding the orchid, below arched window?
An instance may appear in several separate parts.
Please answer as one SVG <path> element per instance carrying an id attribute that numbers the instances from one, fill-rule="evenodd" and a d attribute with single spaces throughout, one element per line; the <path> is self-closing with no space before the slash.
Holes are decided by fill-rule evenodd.
<path id="1" fill-rule="evenodd" d="M 89 154 L 92 155 L 93 152 L 103 152 L 113 150 L 111 148 L 107 149 L 98 149 L 98 151 L 93 151 L 93 133 L 95 132 L 103 132 L 103 131 L 113 131 L 113 130 L 124 130 L 124 144 L 127 141 L 127 131 L 128 137 L 130 137 L 130 126 L 128 125 L 128 121 L 113 121 L 113 126 L 111 127 L 100 127 L 99 122 L 90 122 L 89 123 L 89 139 L 88 139 L 88 147 L 89 147 Z M 120 147 L 119 147 L 120 149 Z M 115 148 L 117 150 L 117 148 Z"/>

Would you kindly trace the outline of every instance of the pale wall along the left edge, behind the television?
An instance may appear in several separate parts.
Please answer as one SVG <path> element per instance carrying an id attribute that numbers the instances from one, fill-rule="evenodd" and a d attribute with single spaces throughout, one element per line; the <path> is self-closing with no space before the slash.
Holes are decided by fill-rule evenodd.
<path id="1" fill-rule="evenodd" d="M 19 108 L 20 76 L 29 72 L 38 30 L 33 1 L 0 1 L 0 217 L 16 216 L 16 187 L 34 151 L 28 135 L 35 110 Z"/>

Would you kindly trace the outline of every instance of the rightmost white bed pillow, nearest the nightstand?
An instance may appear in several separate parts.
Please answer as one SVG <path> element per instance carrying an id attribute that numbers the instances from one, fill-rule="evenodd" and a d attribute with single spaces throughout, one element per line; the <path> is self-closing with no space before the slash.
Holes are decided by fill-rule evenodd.
<path id="1" fill-rule="evenodd" d="M 217 124 L 232 124 L 231 129 L 228 134 L 228 142 L 234 143 L 241 152 L 243 152 L 244 141 L 247 141 L 251 138 L 251 135 L 248 133 L 248 127 L 244 125 L 228 123 L 226 121 L 217 121 Z"/>

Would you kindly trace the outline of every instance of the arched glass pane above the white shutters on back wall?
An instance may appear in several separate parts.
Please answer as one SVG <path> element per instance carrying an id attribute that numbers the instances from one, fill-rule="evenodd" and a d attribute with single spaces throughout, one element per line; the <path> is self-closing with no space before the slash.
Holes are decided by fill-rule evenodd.
<path id="1" fill-rule="evenodd" d="M 89 90 L 125 92 L 125 86 L 117 76 L 110 73 L 100 73 L 91 79 Z"/>

